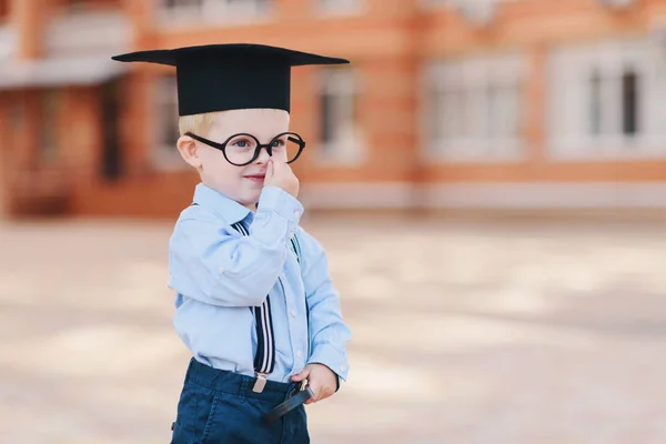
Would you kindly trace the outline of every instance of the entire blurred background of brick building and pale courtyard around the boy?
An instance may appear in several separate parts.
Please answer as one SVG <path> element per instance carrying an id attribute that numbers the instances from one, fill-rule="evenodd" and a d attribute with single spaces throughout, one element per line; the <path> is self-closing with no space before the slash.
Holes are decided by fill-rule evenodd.
<path id="1" fill-rule="evenodd" d="M 666 0 L 0 0 L 0 442 L 167 443 L 198 176 L 143 49 L 293 70 L 352 327 L 314 443 L 666 443 Z"/>

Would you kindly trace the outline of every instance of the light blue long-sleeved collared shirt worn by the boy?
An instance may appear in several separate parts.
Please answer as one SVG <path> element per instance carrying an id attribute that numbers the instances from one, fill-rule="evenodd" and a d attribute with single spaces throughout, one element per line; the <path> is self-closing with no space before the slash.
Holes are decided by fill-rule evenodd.
<path id="1" fill-rule="evenodd" d="M 299 226 L 302 214 L 302 204 L 279 188 L 263 189 L 254 213 L 196 185 L 194 202 L 182 211 L 169 249 L 169 286 L 176 293 L 173 324 L 194 359 L 253 376 L 256 331 L 250 307 L 260 306 L 270 294 L 275 366 L 268 379 L 289 382 L 306 364 L 321 363 L 346 381 L 344 347 L 351 332 L 326 253 Z M 248 226 L 250 235 L 231 226 L 236 222 Z M 294 234 L 301 264 L 290 248 Z"/>

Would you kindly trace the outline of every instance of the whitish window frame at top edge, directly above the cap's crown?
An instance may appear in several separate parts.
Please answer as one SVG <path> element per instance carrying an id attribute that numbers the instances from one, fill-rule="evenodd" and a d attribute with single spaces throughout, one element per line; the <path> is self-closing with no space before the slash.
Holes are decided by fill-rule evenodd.
<path id="1" fill-rule="evenodd" d="M 167 7 L 164 0 L 158 4 L 159 22 L 171 29 L 201 26 L 235 27 L 270 20 L 276 0 L 201 0 L 201 6 Z M 186 1 L 186 0 L 185 0 Z M 266 3 L 266 4 L 263 4 Z"/>

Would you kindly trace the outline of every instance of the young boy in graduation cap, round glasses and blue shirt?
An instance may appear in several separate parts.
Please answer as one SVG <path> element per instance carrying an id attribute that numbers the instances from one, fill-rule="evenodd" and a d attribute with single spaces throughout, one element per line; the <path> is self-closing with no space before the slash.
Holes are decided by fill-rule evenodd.
<path id="1" fill-rule="evenodd" d="M 290 75 L 349 62 L 258 44 L 113 59 L 176 67 L 178 149 L 201 176 L 169 251 L 174 325 L 193 354 L 172 443 L 309 443 L 303 402 L 346 380 L 350 330 L 326 254 L 299 226 Z"/>

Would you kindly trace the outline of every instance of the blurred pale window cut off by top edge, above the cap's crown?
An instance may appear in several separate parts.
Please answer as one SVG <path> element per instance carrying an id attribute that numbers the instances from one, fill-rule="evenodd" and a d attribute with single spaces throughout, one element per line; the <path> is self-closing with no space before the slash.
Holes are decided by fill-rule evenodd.
<path id="1" fill-rule="evenodd" d="M 272 0 L 161 0 L 162 19 L 169 23 L 195 21 L 214 21 L 220 26 L 220 19 L 233 19 L 234 22 L 222 24 L 236 24 L 238 21 L 253 20 L 266 14 Z"/>

